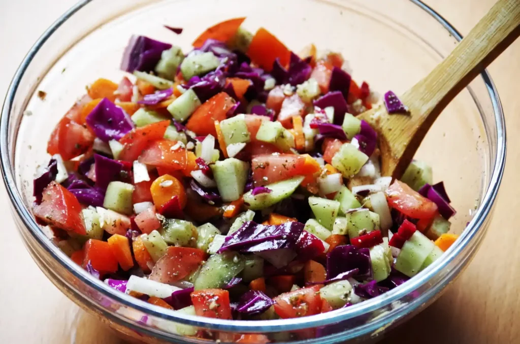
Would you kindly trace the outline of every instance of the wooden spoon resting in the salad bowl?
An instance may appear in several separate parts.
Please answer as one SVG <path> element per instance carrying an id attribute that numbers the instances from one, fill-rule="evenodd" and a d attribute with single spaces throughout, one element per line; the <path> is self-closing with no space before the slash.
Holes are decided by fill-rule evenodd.
<path id="1" fill-rule="evenodd" d="M 499 0 L 443 62 L 399 97 L 409 114 L 388 114 L 381 105 L 357 116 L 379 133 L 383 176 L 404 173 L 440 112 L 518 36 L 520 0 Z"/>

